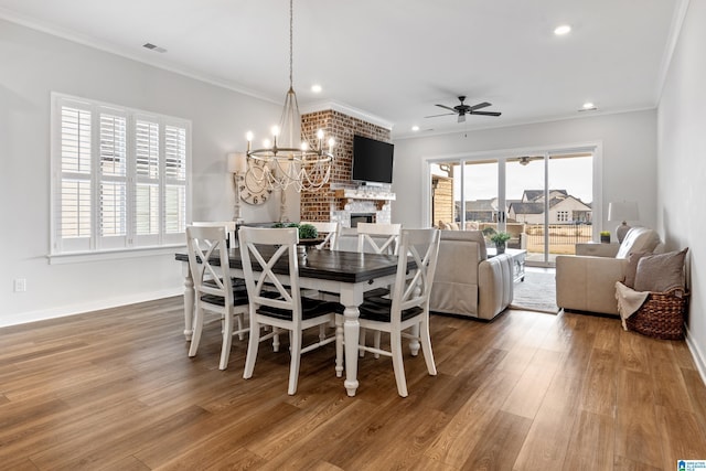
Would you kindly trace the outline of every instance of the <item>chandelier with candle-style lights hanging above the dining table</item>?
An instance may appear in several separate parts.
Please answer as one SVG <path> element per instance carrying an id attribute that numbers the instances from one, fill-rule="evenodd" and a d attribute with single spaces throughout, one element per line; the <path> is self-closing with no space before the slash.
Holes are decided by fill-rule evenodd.
<path id="1" fill-rule="evenodd" d="M 323 130 L 317 132 L 312 146 L 301 138 L 301 115 L 297 94 L 292 86 L 292 17 L 293 0 L 289 0 L 289 92 L 279 126 L 271 130 L 272 139 L 260 149 L 253 149 L 253 133 L 247 133 L 248 170 L 245 183 L 250 191 L 284 190 L 293 186 L 298 192 L 317 191 L 331 175 L 333 162 L 333 138 L 324 148 Z"/>

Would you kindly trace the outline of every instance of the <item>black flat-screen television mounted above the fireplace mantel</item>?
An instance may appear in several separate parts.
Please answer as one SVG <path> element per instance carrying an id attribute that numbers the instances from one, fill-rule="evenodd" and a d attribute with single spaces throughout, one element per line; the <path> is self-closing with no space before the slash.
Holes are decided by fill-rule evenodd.
<path id="1" fill-rule="evenodd" d="M 392 183 L 394 150 L 395 146 L 392 143 L 353 136 L 352 180 Z"/>

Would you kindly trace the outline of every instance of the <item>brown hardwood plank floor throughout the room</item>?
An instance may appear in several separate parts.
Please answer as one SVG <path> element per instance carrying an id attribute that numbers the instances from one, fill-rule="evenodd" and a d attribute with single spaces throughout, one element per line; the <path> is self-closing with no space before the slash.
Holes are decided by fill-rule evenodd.
<path id="1" fill-rule="evenodd" d="M 357 396 L 334 346 L 247 341 L 217 368 L 220 325 L 186 356 L 182 299 L 0 329 L 0 468 L 11 470 L 674 470 L 706 460 L 706 387 L 684 342 L 617 319 L 509 311 L 432 317 L 438 376 L 405 357 L 360 362 Z"/>

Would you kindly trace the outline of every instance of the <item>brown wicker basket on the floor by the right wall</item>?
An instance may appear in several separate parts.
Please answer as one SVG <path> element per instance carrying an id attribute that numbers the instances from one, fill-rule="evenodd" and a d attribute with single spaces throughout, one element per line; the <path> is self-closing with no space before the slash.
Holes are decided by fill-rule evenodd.
<path id="1" fill-rule="evenodd" d="M 684 339 L 684 314 L 688 292 L 673 288 L 665 292 L 650 292 L 640 309 L 627 319 L 631 331 L 664 340 Z"/>

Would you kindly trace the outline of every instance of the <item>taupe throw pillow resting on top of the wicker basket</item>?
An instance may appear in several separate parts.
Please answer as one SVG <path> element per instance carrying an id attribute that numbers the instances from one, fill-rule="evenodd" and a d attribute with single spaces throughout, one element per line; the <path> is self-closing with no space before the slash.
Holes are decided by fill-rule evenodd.
<path id="1" fill-rule="evenodd" d="M 684 259 L 688 247 L 681 251 L 648 255 L 638 263 L 635 291 L 664 292 L 684 288 Z"/>

